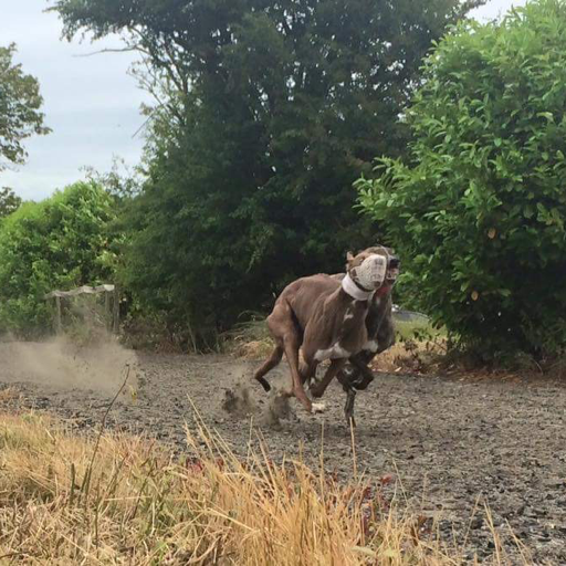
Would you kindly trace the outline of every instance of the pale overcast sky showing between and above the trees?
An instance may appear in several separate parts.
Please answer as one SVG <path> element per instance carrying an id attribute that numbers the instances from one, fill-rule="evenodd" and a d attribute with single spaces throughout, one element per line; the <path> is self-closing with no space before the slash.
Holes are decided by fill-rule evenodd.
<path id="1" fill-rule="evenodd" d="M 422 0 L 427 1 L 427 0 Z M 44 13 L 49 0 L 0 0 L 0 45 L 14 42 L 17 61 L 36 76 L 45 99 L 49 136 L 25 143 L 28 163 L 0 172 L 0 187 L 12 187 L 24 199 L 41 199 L 57 188 L 83 178 L 81 169 L 111 169 L 113 156 L 128 165 L 139 160 L 144 124 L 139 106 L 148 102 L 127 70 L 132 53 L 103 53 L 81 57 L 119 43 L 102 41 L 69 43 L 61 40 L 61 23 Z M 475 11 L 479 19 L 501 15 L 524 0 L 491 0 Z"/>

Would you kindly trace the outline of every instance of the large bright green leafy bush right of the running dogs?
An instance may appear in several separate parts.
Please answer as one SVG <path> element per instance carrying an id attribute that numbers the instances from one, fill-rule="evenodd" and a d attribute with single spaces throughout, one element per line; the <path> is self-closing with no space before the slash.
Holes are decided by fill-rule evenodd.
<path id="1" fill-rule="evenodd" d="M 360 205 L 413 304 L 482 357 L 565 344 L 566 2 L 455 27 L 406 115 L 410 163 L 381 159 Z"/>

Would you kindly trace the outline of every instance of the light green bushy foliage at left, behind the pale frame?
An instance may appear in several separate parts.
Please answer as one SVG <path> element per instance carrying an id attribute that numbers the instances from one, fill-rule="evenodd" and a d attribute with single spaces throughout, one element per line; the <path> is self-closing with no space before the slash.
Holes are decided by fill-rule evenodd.
<path id="1" fill-rule="evenodd" d="M 0 331 L 44 331 L 46 293 L 112 280 L 113 218 L 112 197 L 94 182 L 25 202 L 7 217 L 0 223 Z"/>

